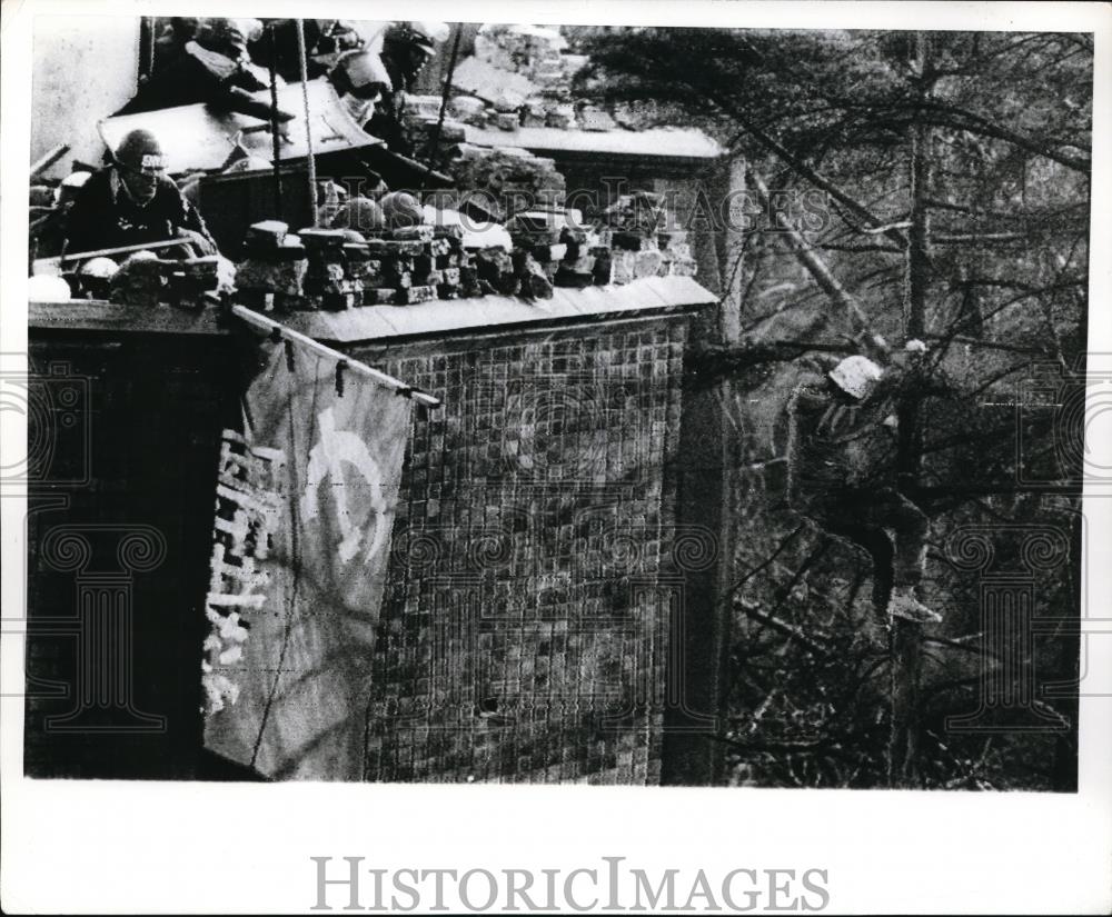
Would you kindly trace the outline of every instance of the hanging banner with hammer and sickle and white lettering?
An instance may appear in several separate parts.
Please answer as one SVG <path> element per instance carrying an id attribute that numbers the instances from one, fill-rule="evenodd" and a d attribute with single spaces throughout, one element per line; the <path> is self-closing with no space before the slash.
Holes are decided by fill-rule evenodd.
<path id="1" fill-rule="evenodd" d="M 274 779 L 359 780 L 411 401 L 260 347 L 220 456 L 205 746 Z"/>

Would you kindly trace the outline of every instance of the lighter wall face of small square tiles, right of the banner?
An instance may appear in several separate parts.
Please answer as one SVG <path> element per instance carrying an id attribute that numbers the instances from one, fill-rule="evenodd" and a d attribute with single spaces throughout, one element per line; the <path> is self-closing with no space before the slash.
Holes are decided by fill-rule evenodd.
<path id="1" fill-rule="evenodd" d="M 445 407 L 407 453 L 367 779 L 659 780 L 686 331 L 600 322 L 386 360 Z"/>

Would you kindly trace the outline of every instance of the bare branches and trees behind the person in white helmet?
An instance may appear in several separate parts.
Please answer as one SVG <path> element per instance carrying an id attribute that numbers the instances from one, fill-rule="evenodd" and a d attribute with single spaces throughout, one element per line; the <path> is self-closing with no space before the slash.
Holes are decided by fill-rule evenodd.
<path id="1" fill-rule="evenodd" d="M 736 640 L 719 736 L 733 780 L 890 781 L 894 675 L 915 681 L 912 785 L 1072 788 L 1068 688 L 1034 690 L 1026 718 L 993 734 L 947 718 L 977 709 L 983 679 L 1004 679 L 1004 657 L 1042 686 L 1078 677 L 1068 622 L 1082 592 L 1074 376 L 1092 38 L 638 28 L 583 29 L 573 42 L 590 54 L 582 92 L 646 123 L 698 124 L 745 158 L 751 188 L 818 190 L 828 203 L 817 230 L 767 221 L 745 233 L 742 263 L 722 266 L 743 273 L 743 340 L 695 360 L 696 385 L 731 379 L 727 409 L 745 431 L 731 476 Z M 870 330 L 931 347 L 930 382 L 902 417 L 901 461 L 905 492 L 932 518 L 922 592 L 946 620 L 916 638 L 911 674 L 876 614 L 868 558 L 776 506 L 784 403 L 801 365 L 848 352 L 862 330 L 820 269 Z M 1051 395 L 1035 403 L 1035 391 Z M 996 571 L 1029 569 L 1037 529 L 1065 539 L 1068 560 L 1034 586 L 1035 614 L 1052 621 L 1041 636 L 1009 631 L 1001 639 L 1013 642 L 990 646 L 983 582 L 952 544 L 971 528 L 992 532 Z M 1010 688 L 1022 690 L 1032 668 L 1009 675 Z"/>

